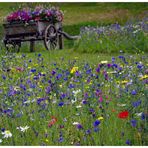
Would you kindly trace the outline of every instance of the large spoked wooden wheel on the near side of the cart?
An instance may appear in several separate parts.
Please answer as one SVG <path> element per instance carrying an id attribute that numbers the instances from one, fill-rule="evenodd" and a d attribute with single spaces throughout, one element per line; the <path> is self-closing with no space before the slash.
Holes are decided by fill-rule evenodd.
<path id="1" fill-rule="evenodd" d="M 47 26 L 44 33 L 44 45 L 47 50 L 57 48 L 57 30 L 54 25 Z"/>

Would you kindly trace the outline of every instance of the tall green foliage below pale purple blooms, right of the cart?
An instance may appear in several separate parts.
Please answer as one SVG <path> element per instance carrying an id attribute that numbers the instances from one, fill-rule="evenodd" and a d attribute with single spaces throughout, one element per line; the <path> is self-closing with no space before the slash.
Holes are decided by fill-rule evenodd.
<path id="1" fill-rule="evenodd" d="M 111 31 L 101 35 L 97 32 L 86 32 L 75 43 L 74 49 L 82 53 L 119 53 L 120 50 L 128 53 L 147 52 L 147 40 L 148 35 L 142 30 Z"/>

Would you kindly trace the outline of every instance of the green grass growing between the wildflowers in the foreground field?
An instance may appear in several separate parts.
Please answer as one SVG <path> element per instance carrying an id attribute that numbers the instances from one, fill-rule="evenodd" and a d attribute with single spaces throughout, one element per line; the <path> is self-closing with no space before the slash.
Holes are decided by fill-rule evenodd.
<path id="1" fill-rule="evenodd" d="M 3 51 L 4 52 L 4 51 Z M 39 60 L 38 54 L 41 53 L 40 60 L 43 58 L 43 61 Z M 143 85 L 142 81 L 139 81 L 138 75 L 139 71 L 136 68 L 135 62 L 141 61 L 144 65 L 147 63 L 146 55 L 124 55 L 128 61 L 128 65 L 132 66 L 133 69 L 130 70 L 131 73 L 135 76 L 131 76 L 133 79 L 133 85 L 129 86 L 129 91 L 136 89 L 138 94 L 133 96 L 130 93 L 124 92 L 124 85 L 120 85 L 121 90 L 116 87 L 117 82 L 122 82 L 124 78 L 122 76 L 126 75 L 129 72 L 127 65 L 120 61 L 117 56 L 118 54 L 106 55 L 106 54 L 79 54 L 71 50 L 61 50 L 61 51 L 42 51 L 35 53 L 25 53 L 25 57 L 22 57 L 22 53 L 15 55 L 5 55 L 4 53 L 0 55 L 0 61 L 5 63 L 6 67 L 13 68 L 10 72 L 0 71 L 0 80 L 1 85 L 0 89 L 3 90 L 3 93 L 0 94 L 2 102 L 5 104 L 3 106 L 1 102 L 2 109 L 7 109 L 8 107 L 13 107 L 15 112 L 13 116 L 8 117 L 8 115 L 2 115 L 0 118 L 0 127 L 10 130 L 13 134 L 11 138 L 3 139 L 2 145 L 76 145 L 80 142 L 80 145 L 126 145 L 126 140 L 129 139 L 132 145 L 147 145 L 147 135 L 144 131 L 146 127 L 146 120 L 141 121 L 140 117 L 136 117 L 135 113 L 144 112 L 146 100 L 146 84 Z M 7 58 L 5 58 L 7 56 Z M 10 58 L 10 57 L 13 58 Z M 103 71 L 113 71 L 113 69 L 107 69 L 105 66 L 102 67 L 101 73 L 96 73 L 96 68 L 101 61 L 108 61 L 111 63 L 112 57 L 116 58 L 118 65 L 122 65 L 124 71 L 120 77 L 109 74 L 109 77 L 113 78 L 112 81 L 106 81 L 103 76 Z M 29 62 L 32 60 L 32 62 Z M 4 62 L 5 61 L 5 62 Z M 87 66 L 88 67 L 87 67 Z M 2 63 L 0 64 L 1 68 L 4 68 Z M 2 67 L 3 66 L 3 67 Z M 44 66 L 44 67 L 43 67 Z M 63 79 L 56 80 L 56 78 L 51 75 L 52 70 L 56 70 L 57 74 L 63 74 L 66 76 L 65 70 L 70 72 L 73 66 L 78 66 L 79 72 L 82 74 L 82 77 L 75 77 L 75 75 L 68 75 L 68 80 L 64 81 Z M 90 66 L 90 67 L 89 67 Z M 23 67 L 25 70 L 23 72 L 15 71 L 15 67 Z M 86 68 L 87 67 L 87 68 Z M 33 74 L 29 74 L 30 69 L 35 68 L 37 71 Z M 86 74 L 86 71 L 92 69 L 92 73 L 99 76 L 98 79 L 92 77 L 91 74 Z M 141 71 L 144 74 L 144 70 Z M 140 72 L 140 73 L 141 73 Z M 46 74 L 45 77 L 40 77 L 40 80 L 33 80 L 33 77 L 38 73 Z M 2 76 L 6 76 L 6 80 L 2 79 Z M 29 76 L 30 75 L 30 76 Z M 128 80 L 130 78 L 127 78 Z M 26 83 L 27 80 L 30 80 L 32 84 L 36 85 L 36 88 L 30 88 Z M 51 80 L 55 84 L 55 89 L 52 90 L 51 94 L 46 94 L 44 92 L 45 88 L 49 86 L 48 81 Z M 79 80 L 80 82 L 75 82 L 74 80 Z M 87 82 L 90 80 L 90 83 Z M 64 105 L 59 107 L 58 103 L 60 102 L 59 93 L 66 93 L 69 91 L 68 85 L 70 83 L 76 84 L 77 87 L 72 90 L 81 89 L 81 91 L 87 92 L 89 94 L 88 101 L 89 104 L 81 104 L 83 99 L 83 93 L 78 94 L 78 100 L 74 104 Z M 99 97 L 95 97 L 95 90 L 98 89 L 97 84 L 100 83 L 102 86 L 99 89 L 103 92 L 103 103 L 98 103 Z M 19 87 L 20 84 L 26 85 L 26 92 L 22 89 L 20 94 L 14 96 L 9 96 L 6 99 L 3 99 L 5 95 L 9 92 L 9 87 Z M 104 85 L 103 85 L 104 84 Z M 138 85 L 139 84 L 139 85 Z M 62 85 L 62 87 L 60 86 Z M 95 88 L 93 88 L 95 86 Z M 31 91 L 33 90 L 33 91 Z M 71 90 L 71 91 L 72 91 Z M 112 90 L 109 92 L 109 90 Z M 27 98 L 28 100 L 34 100 L 34 103 L 28 103 L 28 105 L 22 106 L 21 99 L 25 99 L 26 93 L 30 93 L 31 96 Z M 119 97 L 119 93 L 121 93 Z M 57 96 L 55 97 L 54 94 Z M 49 97 L 50 99 L 46 102 L 42 102 L 42 105 L 46 103 L 47 108 L 42 109 L 42 106 L 37 105 L 36 101 L 38 98 Z M 105 103 L 106 96 L 111 99 L 109 104 Z M 142 104 L 137 108 L 132 108 L 131 103 L 137 99 L 142 100 Z M 66 102 L 68 98 L 63 99 L 62 101 Z M 73 95 L 70 97 L 73 99 Z M 51 102 L 56 100 L 56 104 Z M 99 108 L 99 105 L 103 106 L 103 109 Z M 119 107 L 117 104 L 126 104 L 125 107 Z M 82 108 L 76 109 L 77 105 L 82 105 Z M 89 112 L 89 109 L 93 108 L 95 110 L 96 117 L 93 117 Z M 116 110 L 112 112 L 112 110 Z M 117 118 L 117 114 L 120 111 L 129 110 L 130 115 L 127 119 Z M 34 113 L 32 113 L 35 111 Z M 15 117 L 16 114 L 23 112 L 23 116 L 20 118 Z M 76 113 L 80 113 L 80 116 L 77 116 Z M 41 116 L 44 115 L 42 118 Z M 48 127 L 48 123 L 51 120 L 51 116 L 58 118 L 58 121 L 52 126 Z M 99 132 L 93 131 L 93 122 L 97 120 L 98 117 L 103 116 L 104 120 L 101 121 L 99 125 Z M 66 118 L 68 121 L 64 122 L 63 119 Z M 34 119 L 34 120 L 31 120 Z M 136 128 L 130 125 L 130 120 L 136 119 L 137 126 Z M 83 129 L 78 130 L 76 126 L 72 125 L 73 122 L 80 122 L 83 125 Z M 27 132 L 22 133 L 16 129 L 18 126 L 28 125 L 30 128 Z M 59 126 L 64 125 L 64 128 L 60 129 Z M 139 128 L 142 128 L 142 131 L 139 131 Z M 85 135 L 85 131 L 90 129 L 91 134 Z M 64 141 L 58 142 L 59 132 L 62 132 Z M 124 136 L 122 136 L 124 132 Z M 38 134 L 37 134 L 38 133 Z M 138 138 L 138 133 L 140 137 Z M 47 137 L 45 135 L 47 134 Z M 0 135 L 0 139 L 2 135 Z M 83 138 L 86 138 L 83 139 Z M 92 139 L 93 138 L 93 139 Z"/>

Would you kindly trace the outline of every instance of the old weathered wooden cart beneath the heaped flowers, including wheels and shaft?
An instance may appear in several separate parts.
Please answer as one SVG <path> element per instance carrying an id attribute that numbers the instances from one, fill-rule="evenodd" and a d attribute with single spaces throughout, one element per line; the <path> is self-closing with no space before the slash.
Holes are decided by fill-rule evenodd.
<path id="1" fill-rule="evenodd" d="M 62 23 L 36 21 L 29 23 L 3 24 L 5 30 L 4 44 L 8 51 L 20 51 L 21 43 L 30 41 L 30 51 L 34 50 L 35 41 L 42 40 L 47 50 L 62 49 L 63 36 L 67 39 L 77 39 L 62 31 Z"/>

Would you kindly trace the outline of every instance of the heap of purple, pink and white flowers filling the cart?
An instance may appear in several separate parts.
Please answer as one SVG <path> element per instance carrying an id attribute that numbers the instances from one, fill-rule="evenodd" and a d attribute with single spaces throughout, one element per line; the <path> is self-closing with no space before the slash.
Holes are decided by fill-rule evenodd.
<path id="1" fill-rule="evenodd" d="M 35 21 L 62 22 L 63 12 L 56 7 L 44 8 L 35 7 L 34 10 L 29 8 L 19 9 L 12 12 L 6 17 L 8 23 L 29 23 Z"/>

